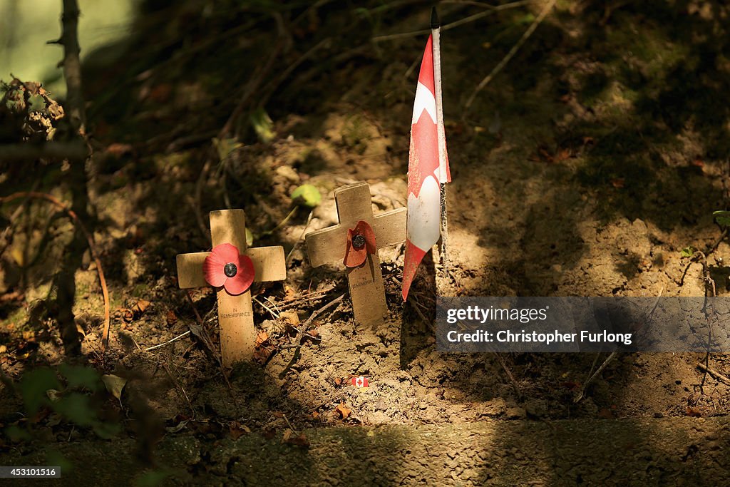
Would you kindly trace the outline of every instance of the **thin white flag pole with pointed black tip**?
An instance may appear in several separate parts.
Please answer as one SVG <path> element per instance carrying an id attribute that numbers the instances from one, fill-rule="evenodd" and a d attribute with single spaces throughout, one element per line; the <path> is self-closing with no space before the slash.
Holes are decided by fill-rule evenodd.
<path id="1" fill-rule="evenodd" d="M 431 9 L 431 39 L 434 50 L 434 91 L 436 98 L 436 132 L 439 147 L 439 185 L 441 186 L 441 248 L 439 249 L 439 263 L 441 264 L 441 277 L 448 277 L 449 261 L 447 256 L 448 224 L 446 219 L 446 138 L 444 133 L 444 110 L 441 101 L 441 48 L 439 46 L 439 35 L 441 23 L 436 12 L 436 7 Z M 443 281 L 444 283 L 447 280 Z M 439 293 L 440 294 L 440 293 Z"/>

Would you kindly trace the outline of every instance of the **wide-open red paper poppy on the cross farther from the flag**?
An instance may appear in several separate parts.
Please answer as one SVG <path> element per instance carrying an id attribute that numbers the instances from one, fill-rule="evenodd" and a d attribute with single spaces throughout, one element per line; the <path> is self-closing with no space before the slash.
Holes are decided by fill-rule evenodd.
<path id="1" fill-rule="evenodd" d="M 203 274 L 208 284 L 223 288 L 236 296 L 245 293 L 253 283 L 253 262 L 238 252 L 235 245 L 216 245 L 203 262 Z"/>

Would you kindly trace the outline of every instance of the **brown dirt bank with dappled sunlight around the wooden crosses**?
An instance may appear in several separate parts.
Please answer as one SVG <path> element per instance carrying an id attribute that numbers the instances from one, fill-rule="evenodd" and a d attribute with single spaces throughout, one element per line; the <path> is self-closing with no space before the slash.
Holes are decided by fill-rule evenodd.
<path id="1" fill-rule="evenodd" d="M 682 252 L 715 245 L 721 229 L 712 212 L 726 210 L 729 201 L 730 66 L 721 54 L 729 37 L 719 20 L 728 12 L 712 2 L 680 3 L 649 12 L 637 4 L 558 2 L 469 111 L 464 100 L 515 44 L 539 4 L 445 31 L 453 175 L 447 203 L 458 294 L 704 296 L 702 265 L 690 266 L 683 278 L 690 258 Z M 726 460 L 718 445 L 727 442 L 727 425 L 717 417 L 730 412 L 729 386 L 698 369 L 704 356 L 618 356 L 575 402 L 591 369 L 606 356 L 437 353 L 433 264 L 420 267 L 412 299 L 402 304 L 402 245 L 380 252 L 388 320 L 374 329 L 356 326 L 345 299 L 315 321 L 318 340 L 305 342 L 293 360 L 294 349 L 283 348 L 299 342 L 292 324 L 347 290 L 339 266 L 312 269 L 301 239 L 305 229 L 336 223 L 334 188 L 366 180 L 375 212 L 405 205 L 418 71 L 412 63 L 425 37 L 369 38 L 413 31 L 428 20 L 427 12 L 382 14 L 383 23 L 358 24 L 335 7 L 314 12 L 308 15 L 318 21 L 316 32 L 298 37 L 301 45 L 283 63 L 296 69 L 269 96 L 271 137 L 257 138 L 244 124 L 244 142 L 230 147 L 203 178 L 200 199 L 196 186 L 210 139 L 236 102 L 231 93 L 247 80 L 231 68 L 245 72 L 263 61 L 249 54 L 237 58 L 236 66 L 221 67 L 212 63 L 211 47 L 190 55 L 188 44 L 169 48 L 185 77 L 166 71 L 169 65 L 151 50 L 140 50 L 126 67 L 87 66 L 97 154 L 91 199 L 113 321 L 110 349 L 103 352 L 103 304 L 89 264 L 76 276 L 83 358 L 74 360 L 127 380 L 120 401 L 106 397 L 99 406 L 120 431 L 110 442 L 73 421 L 53 421 L 54 415 L 26 418 L 21 396 L 4 383 L 0 423 L 32 426 L 29 439 L 0 440 L 0 464 L 41 459 L 50 451 L 79 469 L 99 459 L 93 452 L 101 449 L 107 459 L 118 457 L 125 471 L 136 465 L 138 482 L 221 485 L 291 481 L 302 465 L 303 481 L 312 485 L 368 478 L 380 485 L 423 479 L 456 485 L 666 485 L 712 479 L 707 472 L 727 475 L 718 467 Z M 471 13 L 469 7 L 453 8 L 443 17 L 448 23 Z M 155 26 L 157 18 L 150 15 L 139 29 L 149 32 L 146 23 Z M 322 38 L 318 33 L 344 25 L 343 19 L 364 22 L 368 30 L 347 34 L 342 45 L 330 42 L 296 64 Z M 228 55 L 237 49 L 250 53 L 266 41 L 265 32 L 232 42 L 215 57 L 232 59 Z M 204 41 L 199 32 L 191 34 L 193 46 Z M 326 59 L 334 61 L 318 65 Z M 322 94 L 323 86 L 328 88 Z M 291 210 L 291 191 L 302 183 L 316 185 L 323 197 L 311 221 L 300 209 L 287 225 L 266 234 Z M 177 289 L 174 258 L 210 248 L 196 215 L 222 207 L 245 208 L 254 245 L 284 245 L 291 252 L 285 283 L 254 291 L 255 322 L 268 336 L 261 360 L 240 364 L 228 380 L 193 334 L 145 351 L 196 322 Z M 42 204 L 29 208 L 26 228 L 49 218 Z M 12 249 L 38 242 L 39 230 L 26 236 L 18 231 L 2 256 L 0 344 L 6 351 L 0 367 L 16 382 L 34 367 L 67 360 L 42 300 L 53 291 L 53 262 L 71 226 L 51 224 L 54 242 L 31 268 L 20 269 Z M 730 293 L 728 259 L 727 239 L 707 258 L 718 296 Z M 201 289 L 192 297 L 217 345 L 215 295 Z M 727 356 L 712 355 L 709 364 L 730 374 Z M 350 386 L 354 375 L 369 377 L 370 387 Z M 635 443 L 629 441 L 632 432 Z M 590 441 L 580 441 L 585 438 Z M 492 453 L 469 453 L 462 461 L 468 452 L 485 451 L 464 445 L 485 439 Z M 556 459 L 554 444 L 563 442 L 567 450 Z M 188 453 L 171 455 L 176 448 Z M 631 450 L 625 469 L 599 465 L 623 450 Z M 439 463 L 429 471 L 409 464 L 429 455 L 446 467 Z M 379 480 L 342 467 L 361 462 L 365 469 L 389 472 L 383 464 L 401 456 L 406 460 L 393 467 L 393 475 Z M 689 459 L 685 467 L 691 468 L 670 467 L 677 459 Z M 700 475 L 703 469 L 709 470 Z M 408 477 L 409 471 L 416 477 Z"/>

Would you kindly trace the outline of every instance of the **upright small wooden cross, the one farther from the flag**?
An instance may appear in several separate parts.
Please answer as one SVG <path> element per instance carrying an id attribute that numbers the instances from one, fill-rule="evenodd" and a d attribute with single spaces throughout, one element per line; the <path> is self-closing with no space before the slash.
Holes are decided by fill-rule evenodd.
<path id="1" fill-rule="evenodd" d="M 239 253 L 247 255 L 253 262 L 255 282 L 286 279 L 283 247 L 247 249 L 246 216 L 243 210 L 210 212 L 210 237 L 214 248 L 216 245 L 229 243 L 237 247 Z M 177 283 L 181 289 L 209 285 L 203 273 L 203 263 L 209 254 L 210 252 L 178 254 Z M 251 292 L 233 296 L 226 289 L 220 288 L 217 294 L 220 356 L 223 365 L 228 367 L 234 362 L 253 358 L 256 330 L 253 326 Z"/>

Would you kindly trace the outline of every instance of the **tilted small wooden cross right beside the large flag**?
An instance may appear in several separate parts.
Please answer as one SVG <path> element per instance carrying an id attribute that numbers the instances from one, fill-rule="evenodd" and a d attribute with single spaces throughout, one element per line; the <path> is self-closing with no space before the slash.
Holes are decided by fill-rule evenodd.
<path id="1" fill-rule="evenodd" d="M 358 221 L 372 227 L 375 234 L 375 253 L 369 253 L 364 264 L 347 268 L 347 282 L 350 298 L 358 323 L 372 325 L 381 323 L 388 313 L 385 303 L 383 274 L 380 272 L 380 258 L 377 249 L 395 245 L 406 238 L 406 209 L 399 208 L 374 216 L 370 186 L 354 183 L 334 190 L 339 224 L 307 234 L 307 253 L 313 267 L 345 258 L 347 231 L 355 229 Z M 353 243 L 358 237 L 353 237 Z M 362 237 L 359 237 L 362 239 Z M 360 245 L 362 246 L 362 245 Z"/>

